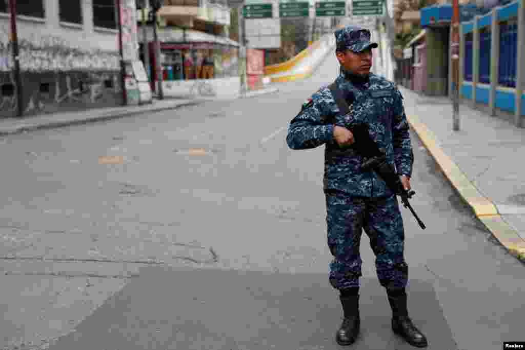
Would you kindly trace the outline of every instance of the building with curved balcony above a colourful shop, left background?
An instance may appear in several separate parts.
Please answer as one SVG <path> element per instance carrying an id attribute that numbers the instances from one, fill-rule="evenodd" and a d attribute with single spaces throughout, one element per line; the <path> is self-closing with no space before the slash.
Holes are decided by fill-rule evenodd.
<path id="1" fill-rule="evenodd" d="M 165 0 L 156 18 L 160 57 L 156 55 L 153 15 L 147 5 L 139 15 L 139 42 L 141 59 L 151 73 L 152 90 L 159 92 L 162 84 L 166 97 L 239 94 L 239 44 L 228 38 L 230 9 L 225 2 Z"/>

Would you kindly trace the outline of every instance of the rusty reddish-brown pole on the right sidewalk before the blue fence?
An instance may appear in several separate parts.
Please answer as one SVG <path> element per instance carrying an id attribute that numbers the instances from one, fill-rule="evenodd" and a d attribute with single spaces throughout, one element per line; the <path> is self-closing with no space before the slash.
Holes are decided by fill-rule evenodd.
<path id="1" fill-rule="evenodd" d="M 458 0 L 452 1 L 451 21 L 452 42 L 450 53 L 452 55 L 452 79 L 454 81 L 454 92 L 452 95 L 452 120 L 453 130 L 459 131 L 459 4 Z"/>

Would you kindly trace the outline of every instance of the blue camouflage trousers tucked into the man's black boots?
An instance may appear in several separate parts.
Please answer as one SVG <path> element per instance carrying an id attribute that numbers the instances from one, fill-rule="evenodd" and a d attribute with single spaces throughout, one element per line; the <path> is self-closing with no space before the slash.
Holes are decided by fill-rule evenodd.
<path id="1" fill-rule="evenodd" d="M 362 230 L 375 254 L 377 277 L 385 288 L 403 288 L 408 280 L 404 260 L 403 220 L 395 195 L 383 198 L 349 197 L 339 191 L 325 193 L 330 284 L 335 289 L 359 286 Z"/>

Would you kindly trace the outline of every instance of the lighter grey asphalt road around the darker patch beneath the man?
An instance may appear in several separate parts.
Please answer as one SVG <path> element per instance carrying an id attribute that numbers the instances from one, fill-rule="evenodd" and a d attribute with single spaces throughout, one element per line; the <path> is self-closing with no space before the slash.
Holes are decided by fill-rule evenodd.
<path id="1" fill-rule="evenodd" d="M 323 148 L 292 151 L 285 137 L 337 71 L 330 57 L 278 94 L 0 138 L 0 347 L 54 344 L 143 266 L 325 274 L 330 290 Z M 412 204 L 427 229 L 402 209 L 406 260 L 435 292 L 428 317 L 443 315 L 457 349 L 524 341 L 523 265 L 412 136 Z M 366 239 L 362 257 L 374 279 Z"/>

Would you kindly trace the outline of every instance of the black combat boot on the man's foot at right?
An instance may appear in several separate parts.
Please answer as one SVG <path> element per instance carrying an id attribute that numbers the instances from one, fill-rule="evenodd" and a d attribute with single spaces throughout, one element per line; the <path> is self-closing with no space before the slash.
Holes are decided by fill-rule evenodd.
<path id="1" fill-rule="evenodd" d="M 388 293 L 388 302 L 392 307 L 392 330 L 394 333 L 401 335 L 405 341 L 416 347 L 426 347 L 428 345 L 427 339 L 408 317 L 408 310 L 406 307 L 406 293 L 390 292 Z"/>

